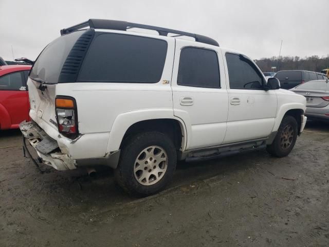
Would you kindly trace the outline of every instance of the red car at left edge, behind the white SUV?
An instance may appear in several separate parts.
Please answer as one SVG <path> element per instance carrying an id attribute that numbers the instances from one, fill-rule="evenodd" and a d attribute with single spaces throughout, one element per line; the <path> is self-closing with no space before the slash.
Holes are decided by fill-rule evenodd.
<path id="1" fill-rule="evenodd" d="M 19 128 L 29 118 L 26 81 L 31 65 L 0 66 L 0 130 Z"/>

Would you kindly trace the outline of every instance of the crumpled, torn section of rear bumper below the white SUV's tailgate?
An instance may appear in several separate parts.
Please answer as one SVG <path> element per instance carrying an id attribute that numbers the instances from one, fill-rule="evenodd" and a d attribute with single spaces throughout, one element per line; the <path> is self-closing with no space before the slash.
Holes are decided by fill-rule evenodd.
<path id="1" fill-rule="evenodd" d="M 46 165 L 56 170 L 77 168 L 76 161 L 72 160 L 67 154 L 62 153 L 57 141 L 50 138 L 35 122 L 23 121 L 19 126 L 24 137 L 28 139 L 30 145 Z"/>

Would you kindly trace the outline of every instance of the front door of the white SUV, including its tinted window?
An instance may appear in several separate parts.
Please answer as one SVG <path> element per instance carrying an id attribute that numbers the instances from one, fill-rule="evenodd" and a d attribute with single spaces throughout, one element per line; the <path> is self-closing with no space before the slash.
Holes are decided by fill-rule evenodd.
<path id="1" fill-rule="evenodd" d="M 226 53 L 229 114 L 224 144 L 267 137 L 277 114 L 275 91 L 265 91 L 258 67 L 239 54 Z"/>

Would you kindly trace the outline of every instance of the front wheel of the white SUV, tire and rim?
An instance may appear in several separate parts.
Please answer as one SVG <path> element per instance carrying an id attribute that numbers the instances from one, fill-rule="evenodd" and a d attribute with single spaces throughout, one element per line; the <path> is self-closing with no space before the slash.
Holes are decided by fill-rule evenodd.
<path id="1" fill-rule="evenodd" d="M 266 150 L 276 157 L 287 156 L 293 150 L 298 135 L 298 124 L 294 117 L 284 116 L 278 133 Z"/>

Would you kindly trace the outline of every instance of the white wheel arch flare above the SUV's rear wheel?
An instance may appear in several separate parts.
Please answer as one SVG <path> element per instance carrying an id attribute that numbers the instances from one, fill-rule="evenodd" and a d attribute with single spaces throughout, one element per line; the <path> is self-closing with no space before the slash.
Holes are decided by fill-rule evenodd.
<path id="1" fill-rule="evenodd" d="M 180 127 L 184 137 L 182 138 L 182 147 L 186 147 L 186 136 L 189 135 L 186 129 L 185 122 L 173 115 L 172 109 L 144 109 L 136 110 L 131 112 L 125 112 L 118 115 L 113 123 L 112 129 L 109 132 L 108 144 L 106 148 L 106 153 L 117 151 L 120 148 L 123 136 L 125 132 L 134 123 L 152 120 L 152 119 L 175 119 L 179 121 Z"/>

